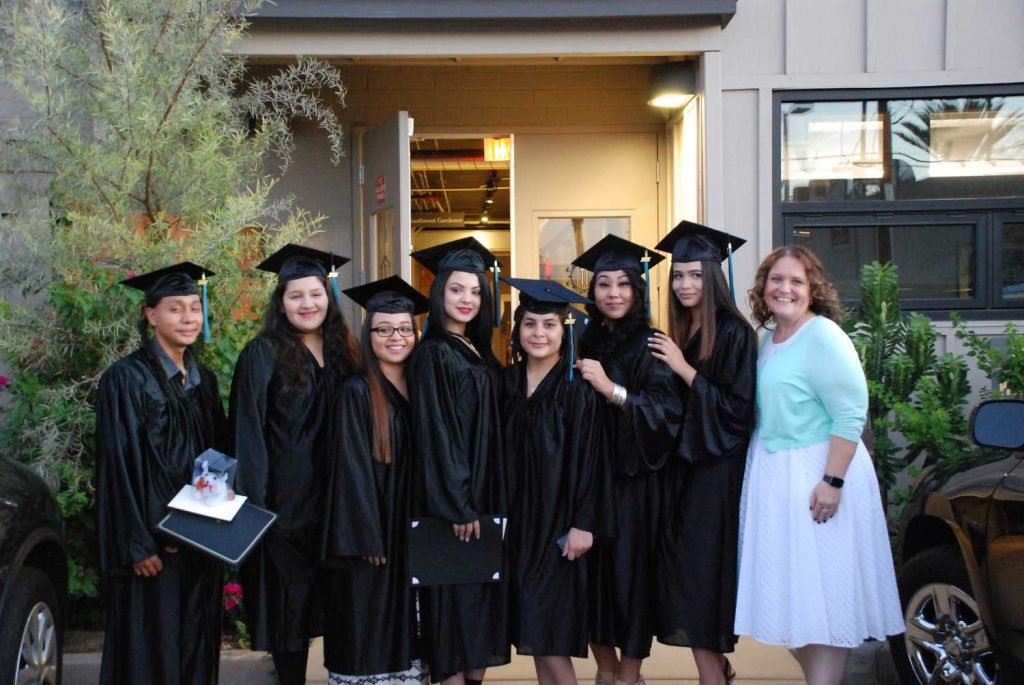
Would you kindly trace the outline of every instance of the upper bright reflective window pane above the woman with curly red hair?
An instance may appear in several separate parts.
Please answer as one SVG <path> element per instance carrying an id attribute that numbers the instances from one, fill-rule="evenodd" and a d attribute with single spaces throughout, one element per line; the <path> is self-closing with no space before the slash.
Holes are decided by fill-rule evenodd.
<path id="1" fill-rule="evenodd" d="M 782 202 L 1024 195 L 1024 95 L 782 102 Z"/>

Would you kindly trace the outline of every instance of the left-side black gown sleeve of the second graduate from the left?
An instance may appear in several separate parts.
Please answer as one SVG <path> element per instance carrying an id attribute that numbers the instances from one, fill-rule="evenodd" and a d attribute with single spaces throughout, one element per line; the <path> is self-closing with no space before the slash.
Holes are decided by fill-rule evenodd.
<path id="1" fill-rule="evenodd" d="M 257 337 L 239 355 L 231 378 L 231 427 L 234 457 L 239 460 L 238 490 L 257 507 L 267 506 L 270 459 L 267 454 L 267 398 L 273 378 L 274 354 L 270 342 Z"/>

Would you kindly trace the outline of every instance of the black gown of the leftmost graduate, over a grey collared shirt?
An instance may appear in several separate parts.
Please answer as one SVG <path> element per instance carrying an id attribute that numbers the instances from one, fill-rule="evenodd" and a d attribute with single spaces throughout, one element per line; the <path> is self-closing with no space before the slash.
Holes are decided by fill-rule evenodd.
<path id="1" fill-rule="evenodd" d="M 167 503 L 191 482 L 196 457 L 219 446 L 224 412 L 212 373 L 200 367 L 200 385 L 184 390 L 159 365 L 152 351 L 138 350 L 99 380 L 96 495 L 106 575 L 101 685 L 217 681 L 222 567 L 156 526 Z M 177 553 L 164 552 L 168 546 Z M 159 574 L 134 575 L 133 563 L 158 553 Z"/>

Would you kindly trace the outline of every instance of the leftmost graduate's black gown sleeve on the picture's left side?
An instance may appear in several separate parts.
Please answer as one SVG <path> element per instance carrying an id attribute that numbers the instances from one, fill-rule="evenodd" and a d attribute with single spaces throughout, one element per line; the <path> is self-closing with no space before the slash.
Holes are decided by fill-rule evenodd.
<path id="1" fill-rule="evenodd" d="M 145 380 L 125 363 L 114 365 L 99 379 L 96 490 L 104 573 L 127 572 L 159 550 L 150 527 L 150 464 L 143 458 Z"/>

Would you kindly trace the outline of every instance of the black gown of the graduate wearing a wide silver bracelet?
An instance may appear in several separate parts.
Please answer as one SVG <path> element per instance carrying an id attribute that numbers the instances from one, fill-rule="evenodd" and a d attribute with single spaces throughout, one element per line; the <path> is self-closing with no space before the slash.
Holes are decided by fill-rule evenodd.
<path id="1" fill-rule="evenodd" d="M 591 560 L 591 642 L 631 658 L 647 657 L 653 641 L 660 471 L 676 451 L 682 419 L 675 375 L 647 347 L 653 333 L 643 327 L 600 359 L 629 396 L 622 409 L 601 403 L 618 538 L 598 546 Z"/>

